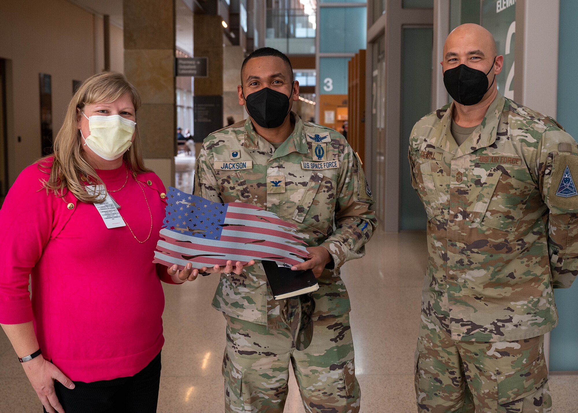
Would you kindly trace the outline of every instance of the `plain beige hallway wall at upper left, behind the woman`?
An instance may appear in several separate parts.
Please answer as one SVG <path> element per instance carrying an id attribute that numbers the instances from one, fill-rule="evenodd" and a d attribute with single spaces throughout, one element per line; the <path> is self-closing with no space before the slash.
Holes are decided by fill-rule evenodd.
<path id="1" fill-rule="evenodd" d="M 39 73 L 52 76 L 54 138 L 72 98 L 72 80 L 95 73 L 94 21 L 91 13 L 65 0 L 0 2 L 0 58 L 9 60 L 12 91 L 7 102 L 10 185 L 41 155 Z M 117 28 L 111 29 L 111 39 L 116 38 Z M 122 69 L 113 58 L 117 54 L 111 50 L 111 59 Z"/>

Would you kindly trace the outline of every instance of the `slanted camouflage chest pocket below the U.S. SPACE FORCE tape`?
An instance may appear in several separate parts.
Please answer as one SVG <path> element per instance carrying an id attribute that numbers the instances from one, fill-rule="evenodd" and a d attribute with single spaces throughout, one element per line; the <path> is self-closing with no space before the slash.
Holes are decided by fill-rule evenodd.
<path id="1" fill-rule="evenodd" d="M 313 172 L 292 219 L 327 235 L 333 227 L 336 184 L 334 180 Z"/>

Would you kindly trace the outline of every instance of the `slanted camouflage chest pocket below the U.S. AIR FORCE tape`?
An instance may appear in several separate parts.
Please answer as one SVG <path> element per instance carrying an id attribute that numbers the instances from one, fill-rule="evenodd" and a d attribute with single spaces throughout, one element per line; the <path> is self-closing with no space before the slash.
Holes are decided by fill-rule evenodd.
<path id="1" fill-rule="evenodd" d="M 501 231 L 514 232 L 524 213 L 528 198 L 536 187 L 501 173 L 495 179 L 493 187 L 481 224 Z"/>

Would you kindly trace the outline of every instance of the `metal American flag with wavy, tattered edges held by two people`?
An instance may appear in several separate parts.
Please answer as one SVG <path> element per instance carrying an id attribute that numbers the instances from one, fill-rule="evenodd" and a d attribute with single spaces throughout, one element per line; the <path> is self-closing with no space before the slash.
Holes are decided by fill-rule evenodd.
<path id="1" fill-rule="evenodd" d="M 169 187 L 154 262 L 193 268 L 271 260 L 295 265 L 308 255 L 297 226 L 244 202 L 220 204 Z"/>

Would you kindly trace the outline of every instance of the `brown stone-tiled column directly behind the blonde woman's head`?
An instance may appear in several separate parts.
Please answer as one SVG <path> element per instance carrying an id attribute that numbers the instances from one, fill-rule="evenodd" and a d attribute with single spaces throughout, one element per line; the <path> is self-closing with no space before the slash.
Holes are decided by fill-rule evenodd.
<path id="1" fill-rule="evenodd" d="M 175 3 L 124 0 L 124 71 L 142 98 L 137 115 L 144 163 L 175 184 Z M 222 86 L 221 86 L 222 88 Z"/>

